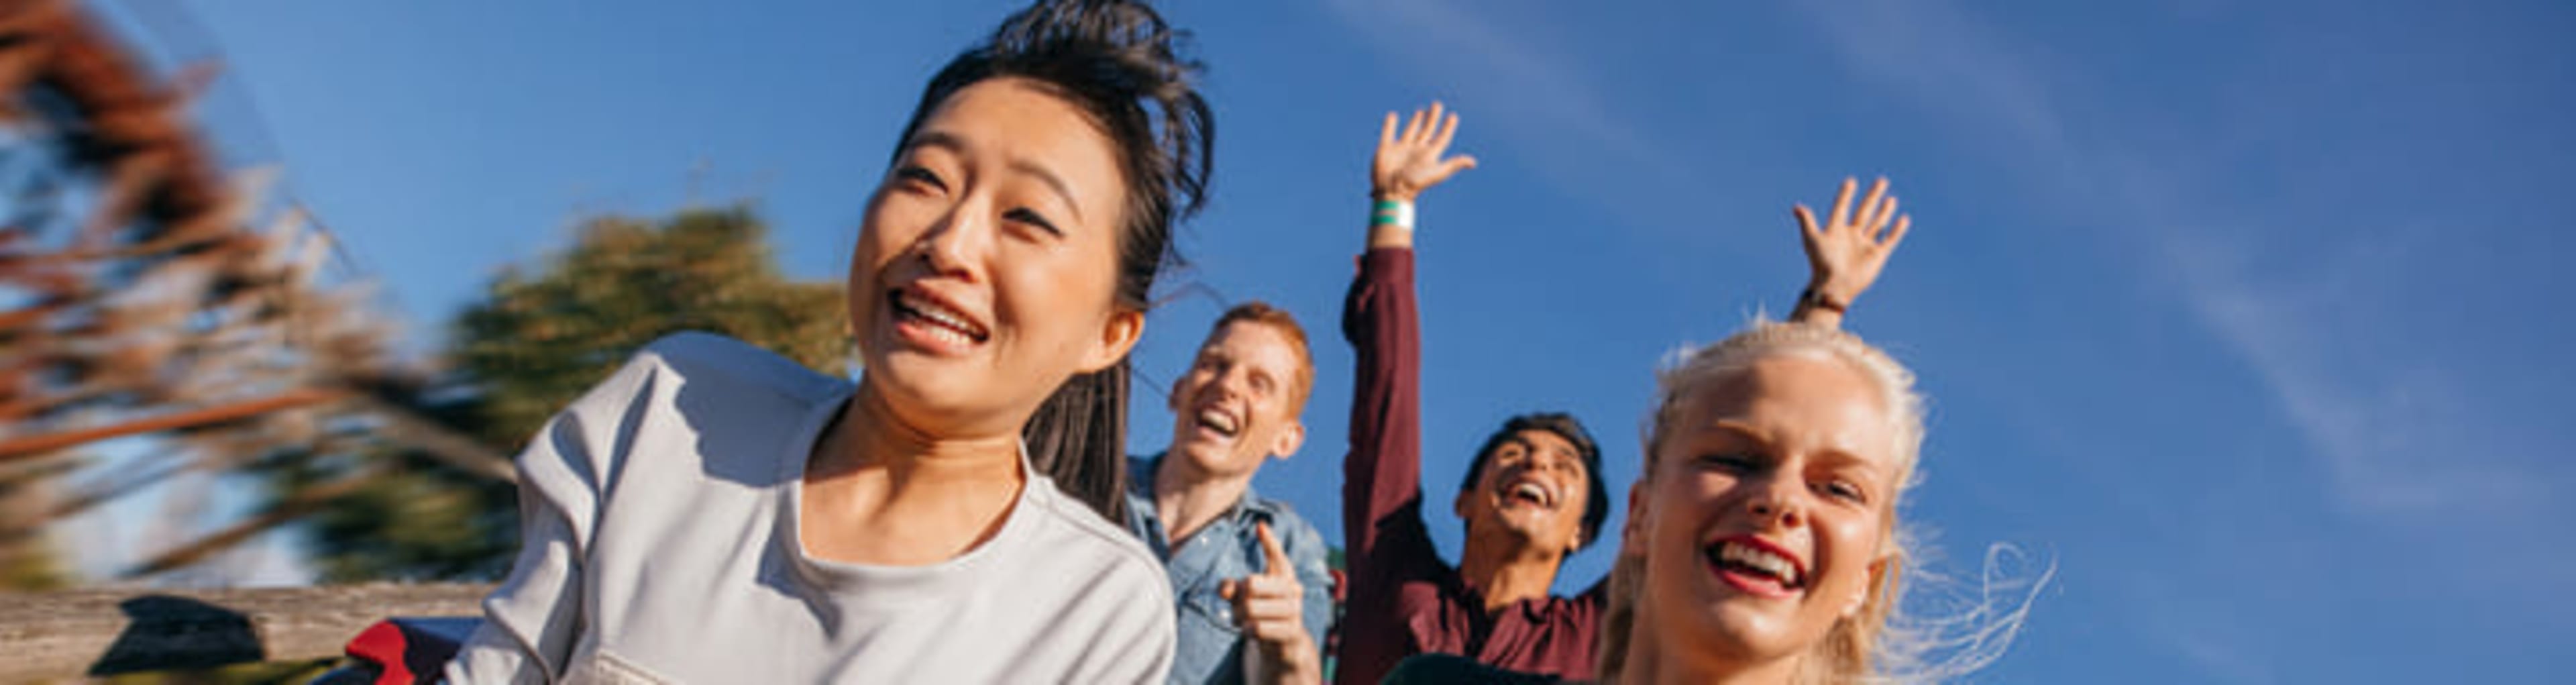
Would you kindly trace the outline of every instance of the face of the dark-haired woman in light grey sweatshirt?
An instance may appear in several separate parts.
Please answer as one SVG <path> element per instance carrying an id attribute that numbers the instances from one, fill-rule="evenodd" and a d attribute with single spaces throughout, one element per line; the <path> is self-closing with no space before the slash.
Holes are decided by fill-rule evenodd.
<path id="1" fill-rule="evenodd" d="M 1115 363 L 1126 180 L 1079 108 L 1025 80 L 948 95 L 886 173 L 850 258 L 866 384 L 914 430 L 1018 433 L 1066 379 Z"/>

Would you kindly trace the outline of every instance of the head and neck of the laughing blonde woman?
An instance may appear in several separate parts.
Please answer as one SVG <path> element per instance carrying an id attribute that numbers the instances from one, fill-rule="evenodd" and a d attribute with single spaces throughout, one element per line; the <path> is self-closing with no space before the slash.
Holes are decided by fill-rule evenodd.
<path id="1" fill-rule="evenodd" d="M 1855 682 L 1896 608 L 1914 373 L 1860 337 L 1754 324 L 1659 373 L 1610 574 L 1610 682 Z"/>

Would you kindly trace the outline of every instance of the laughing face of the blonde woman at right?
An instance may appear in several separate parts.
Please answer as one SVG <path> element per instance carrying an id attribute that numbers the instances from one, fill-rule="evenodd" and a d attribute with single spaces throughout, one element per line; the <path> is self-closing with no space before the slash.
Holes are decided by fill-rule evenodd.
<path id="1" fill-rule="evenodd" d="M 1628 497 L 1643 639 L 1736 667 L 1811 652 L 1886 569 L 1888 407 L 1860 371 L 1808 355 L 1759 358 L 1677 402 Z"/>

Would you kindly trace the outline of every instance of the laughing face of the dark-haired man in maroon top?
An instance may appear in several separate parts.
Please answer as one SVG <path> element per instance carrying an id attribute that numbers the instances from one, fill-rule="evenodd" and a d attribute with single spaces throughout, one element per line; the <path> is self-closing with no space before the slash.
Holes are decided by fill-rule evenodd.
<path id="1" fill-rule="evenodd" d="M 1584 507 L 1592 474 L 1571 440 L 1551 430 L 1520 430 L 1494 448 L 1476 487 L 1458 492 L 1458 518 L 1468 543 L 1489 538 L 1574 554 L 1584 543 Z"/>

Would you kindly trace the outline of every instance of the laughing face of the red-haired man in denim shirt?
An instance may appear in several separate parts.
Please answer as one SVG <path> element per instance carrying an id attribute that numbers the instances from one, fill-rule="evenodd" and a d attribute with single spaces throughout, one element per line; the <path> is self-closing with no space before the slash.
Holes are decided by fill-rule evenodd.
<path id="1" fill-rule="evenodd" d="M 1306 440 L 1296 415 L 1296 342 L 1273 324 L 1231 322 L 1172 381 L 1172 451 L 1211 476 L 1249 476 Z"/>

